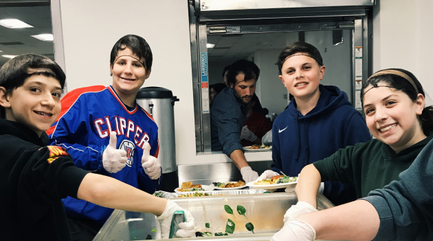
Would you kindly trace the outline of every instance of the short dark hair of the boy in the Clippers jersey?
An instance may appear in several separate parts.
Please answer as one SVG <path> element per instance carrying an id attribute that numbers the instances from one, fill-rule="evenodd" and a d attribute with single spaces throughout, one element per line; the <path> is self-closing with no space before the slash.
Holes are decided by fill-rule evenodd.
<path id="1" fill-rule="evenodd" d="M 144 38 L 134 35 L 128 34 L 120 38 L 118 42 L 115 43 L 113 49 L 111 49 L 110 55 L 110 64 L 113 65 L 116 56 L 119 51 L 129 48 L 131 51 L 137 55 L 138 59 L 141 61 L 144 59 L 144 66 L 146 67 L 146 73 L 152 68 L 153 55 L 151 51 L 151 47 L 149 47 L 148 43 Z"/>

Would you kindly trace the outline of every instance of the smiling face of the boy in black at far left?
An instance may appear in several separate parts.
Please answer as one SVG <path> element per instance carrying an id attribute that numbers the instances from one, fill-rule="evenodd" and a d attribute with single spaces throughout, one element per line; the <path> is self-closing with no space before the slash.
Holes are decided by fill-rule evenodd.
<path id="1" fill-rule="evenodd" d="M 41 136 L 60 113 L 61 94 L 57 79 L 33 75 L 9 93 L 0 87 L 0 104 L 5 107 L 7 120 L 26 125 Z"/>

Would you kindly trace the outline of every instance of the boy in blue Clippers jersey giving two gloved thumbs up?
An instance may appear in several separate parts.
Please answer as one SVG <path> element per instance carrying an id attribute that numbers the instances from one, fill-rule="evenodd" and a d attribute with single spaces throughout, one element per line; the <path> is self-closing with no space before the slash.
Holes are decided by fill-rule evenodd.
<path id="1" fill-rule="evenodd" d="M 127 35 L 111 50 L 113 85 L 69 92 L 63 113 L 47 131 L 51 144 L 65 148 L 75 165 L 153 193 L 160 186 L 158 127 L 135 102 L 151 75 L 152 52 L 146 40 Z M 150 156 L 143 151 L 150 148 Z M 68 196 L 63 199 L 72 238 L 92 240 L 112 209 Z"/>

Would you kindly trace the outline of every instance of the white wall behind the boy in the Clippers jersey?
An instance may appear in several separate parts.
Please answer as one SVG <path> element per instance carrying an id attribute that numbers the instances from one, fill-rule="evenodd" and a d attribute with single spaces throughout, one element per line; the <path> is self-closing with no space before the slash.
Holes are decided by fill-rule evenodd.
<path id="1" fill-rule="evenodd" d="M 54 31 L 54 39 L 63 34 L 68 90 L 111 84 L 111 48 L 126 34 L 142 36 L 153 52 L 151 77 L 144 86 L 168 88 L 180 99 L 175 105 L 177 164 L 231 162 L 224 154 L 196 155 L 188 1 L 52 1 L 60 3 L 63 32 Z M 270 153 L 246 157 L 271 160 Z"/>

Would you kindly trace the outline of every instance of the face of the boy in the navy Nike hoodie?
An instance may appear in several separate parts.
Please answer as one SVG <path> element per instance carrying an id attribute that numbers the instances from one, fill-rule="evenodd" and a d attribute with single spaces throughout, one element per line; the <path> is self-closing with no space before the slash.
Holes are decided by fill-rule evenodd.
<path id="1" fill-rule="evenodd" d="M 282 64 L 282 84 L 295 99 L 311 99 L 319 92 L 325 66 L 319 64 L 306 53 L 295 53 Z"/>

